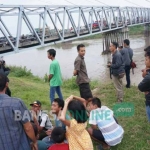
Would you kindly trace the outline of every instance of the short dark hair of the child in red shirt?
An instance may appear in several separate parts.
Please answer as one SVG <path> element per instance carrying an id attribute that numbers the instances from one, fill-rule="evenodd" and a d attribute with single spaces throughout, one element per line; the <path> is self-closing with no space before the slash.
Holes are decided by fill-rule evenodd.
<path id="1" fill-rule="evenodd" d="M 51 138 L 55 143 L 62 143 L 65 140 L 65 130 L 62 127 L 55 127 L 52 130 Z"/>

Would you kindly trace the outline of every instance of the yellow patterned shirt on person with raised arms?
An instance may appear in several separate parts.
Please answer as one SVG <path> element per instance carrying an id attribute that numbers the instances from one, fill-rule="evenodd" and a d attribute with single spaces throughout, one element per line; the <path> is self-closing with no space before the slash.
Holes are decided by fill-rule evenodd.
<path id="1" fill-rule="evenodd" d="M 70 127 L 66 130 L 69 150 L 93 150 L 92 140 L 86 131 L 86 126 L 87 122 L 77 123 L 75 119 L 70 121 Z"/>

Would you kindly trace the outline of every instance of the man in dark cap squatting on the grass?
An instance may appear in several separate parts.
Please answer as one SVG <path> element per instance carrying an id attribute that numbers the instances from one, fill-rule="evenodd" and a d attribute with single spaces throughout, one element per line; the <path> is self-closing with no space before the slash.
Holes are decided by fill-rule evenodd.
<path id="1" fill-rule="evenodd" d="M 32 115 L 32 121 L 37 125 L 38 130 L 40 132 L 39 140 L 46 137 L 46 131 L 49 129 L 52 129 L 52 123 L 50 121 L 50 118 L 46 112 L 41 110 L 41 102 L 36 100 L 32 104 L 30 104 L 31 108 L 31 115 Z"/>

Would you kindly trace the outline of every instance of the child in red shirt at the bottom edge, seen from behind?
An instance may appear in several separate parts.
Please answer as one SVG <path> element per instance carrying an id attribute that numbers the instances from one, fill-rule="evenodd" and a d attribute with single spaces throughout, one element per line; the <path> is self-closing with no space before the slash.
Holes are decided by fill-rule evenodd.
<path id="1" fill-rule="evenodd" d="M 56 144 L 53 144 L 48 150 L 69 150 L 69 145 L 64 142 L 66 137 L 63 128 L 55 127 L 51 133 L 51 139 Z"/>

